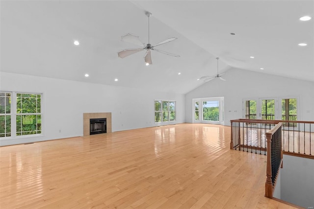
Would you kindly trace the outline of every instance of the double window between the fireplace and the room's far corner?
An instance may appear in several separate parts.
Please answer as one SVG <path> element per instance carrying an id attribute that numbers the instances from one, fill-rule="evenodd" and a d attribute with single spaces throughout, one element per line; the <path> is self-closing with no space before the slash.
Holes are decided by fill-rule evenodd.
<path id="1" fill-rule="evenodd" d="M 155 100 L 155 123 L 176 120 L 176 102 Z"/>

